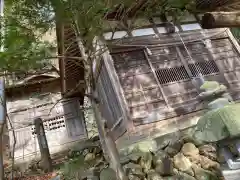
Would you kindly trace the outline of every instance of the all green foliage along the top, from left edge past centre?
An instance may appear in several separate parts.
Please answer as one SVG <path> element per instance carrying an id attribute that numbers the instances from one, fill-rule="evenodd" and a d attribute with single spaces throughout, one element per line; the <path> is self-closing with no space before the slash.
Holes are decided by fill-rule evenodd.
<path id="1" fill-rule="evenodd" d="M 136 16 L 151 17 L 156 13 L 183 13 L 191 0 L 149 1 Z M 94 37 L 102 35 L 106 12 L 119 7 L 126 19 L 136 5 L 129 0 L 8 0 L 5 5 L 5 52 L 0 53 L 0 70 L 16 71 L 42 68 L 42 60 L 51 56 L 52 44 L 42 42 L 42 35 L 54 26 L 55 20 L 71 22 L 87 49 Z M 119 15 L 119 14 L 118 14 Z M 46 61 L 45 61 L 46 62 Z"/>

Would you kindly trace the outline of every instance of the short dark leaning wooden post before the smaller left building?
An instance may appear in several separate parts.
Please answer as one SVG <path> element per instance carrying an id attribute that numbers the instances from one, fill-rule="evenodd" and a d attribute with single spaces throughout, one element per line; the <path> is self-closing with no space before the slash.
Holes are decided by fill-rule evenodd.
<path id="1" fill-rule="evenodd" d="M 41 152 L 41 165 L 45 172 L 51 172 L 52 168 L 52 159 L 50 157 L 48 143 L 46 134 L 44 132 L 43 122 L 41 118 L 37 118 L 34 120 L 36 134 L 38 138 L 39 149 Z"/>

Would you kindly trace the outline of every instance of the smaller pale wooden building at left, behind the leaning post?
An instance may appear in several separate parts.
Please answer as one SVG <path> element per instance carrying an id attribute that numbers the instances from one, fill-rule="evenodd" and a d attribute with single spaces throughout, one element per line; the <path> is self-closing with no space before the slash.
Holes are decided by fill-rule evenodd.
<path id="1" fill-rule="evenodd" d="M 43 119 L 51 154 L 86 138 L 79 98 L 62 99 L 58 75 L 35 75 L 6 90 L 10 151 L 16 135 L 15 160 L 29 161 L 40 155 L 34 119 Z"/>

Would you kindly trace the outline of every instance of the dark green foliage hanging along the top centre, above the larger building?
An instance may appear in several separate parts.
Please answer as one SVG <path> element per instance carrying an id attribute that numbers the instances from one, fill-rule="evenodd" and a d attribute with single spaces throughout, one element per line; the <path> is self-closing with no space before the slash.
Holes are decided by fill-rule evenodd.
<path id="1" fill-rule="evenodd" d="M 144 10 L 140 8 L 136 12 L 134 18 L 137 16 L 152 17 L 156 13 L 185 12 L 189 3 L 191 3 L 191 0 L 160 0 L 154 1 L 153 6 L 152 2 L 149 1 L 145 4 Z M 119 12 L 116 17 L 120 16 L 118 18 L 124 21 L 127 18 L 125 15 L 136 5 L 136 2 L 129 0 L 66 0 L 64 2 L 51 0 L 51 4 L 57 12 L 58 19 L 73 22 L 77 32 L 81 32 L 81 39 L 85 47 L 90 48 L 94 37 L 103 34 L 106 13 L 119 7 L 124 13 Z"/>

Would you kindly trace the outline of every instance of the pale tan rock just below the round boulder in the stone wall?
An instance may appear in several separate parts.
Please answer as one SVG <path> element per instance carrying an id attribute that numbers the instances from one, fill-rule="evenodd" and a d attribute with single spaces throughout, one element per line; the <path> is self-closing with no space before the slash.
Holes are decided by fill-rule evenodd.
<path id="1" fill-rule="evenodd" d="M 173 162 L 175 168 L 177 168 L 178 170 L 185 172 L 191 176 L 194 175 L 191 161 L 182 153 L 178 153 L 177 155 L 175 155 L 173 158 Z"/>

